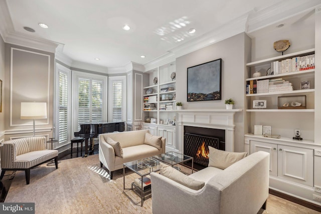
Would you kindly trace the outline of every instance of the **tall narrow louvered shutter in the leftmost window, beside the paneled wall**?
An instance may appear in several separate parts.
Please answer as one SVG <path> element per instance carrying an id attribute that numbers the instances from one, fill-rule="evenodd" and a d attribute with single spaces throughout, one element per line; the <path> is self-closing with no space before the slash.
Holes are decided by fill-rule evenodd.
<path id="1" fill-rule="evenodd" d="M 59 72 L 59 142 L 68 138 L 68 76 Z"/>

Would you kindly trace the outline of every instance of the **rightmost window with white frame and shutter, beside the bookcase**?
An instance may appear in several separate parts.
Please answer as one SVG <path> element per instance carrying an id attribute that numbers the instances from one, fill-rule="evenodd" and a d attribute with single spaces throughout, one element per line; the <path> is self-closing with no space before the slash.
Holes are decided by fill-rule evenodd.
<path id="1" fill-rule="evenodd" d="M 125 78 L 125 76 L 109 77 L 109 120 L 125 120 Z"/>

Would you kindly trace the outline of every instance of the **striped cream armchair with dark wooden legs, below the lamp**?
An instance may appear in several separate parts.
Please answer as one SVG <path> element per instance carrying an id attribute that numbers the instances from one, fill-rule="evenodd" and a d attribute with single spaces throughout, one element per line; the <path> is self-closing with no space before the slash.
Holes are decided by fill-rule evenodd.
<path id="1" fill-rule="evenodd" d="M 24 170 L 27 184 L 30 182 L 30 169 L 48 160 L 55 159 L 58 168 L 58 150 L 45 150 L 46 137 L 26 137 L 4 142 L 0 147 L 2 172 L 0 180 L 7 170 Z"/>

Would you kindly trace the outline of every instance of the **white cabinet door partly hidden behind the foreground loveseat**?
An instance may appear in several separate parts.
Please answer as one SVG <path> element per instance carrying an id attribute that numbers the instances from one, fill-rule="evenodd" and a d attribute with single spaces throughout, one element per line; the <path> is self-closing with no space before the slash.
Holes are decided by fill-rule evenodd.
<path id="1" fill-rule="evenodd" d="M 277 176 L 277 144 L 251 140 L 250 153 L 257 151 L 270 153 L 270 175 Z"/>

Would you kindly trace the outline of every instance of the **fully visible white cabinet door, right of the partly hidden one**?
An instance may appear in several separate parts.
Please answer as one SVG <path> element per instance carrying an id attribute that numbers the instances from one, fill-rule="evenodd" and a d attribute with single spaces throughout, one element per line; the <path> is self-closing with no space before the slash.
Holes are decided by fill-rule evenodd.
<path id="1" fill-rule="evenodd" d="M 313 149 L 278 145 L 278 177 L 313 186 Z"/>

